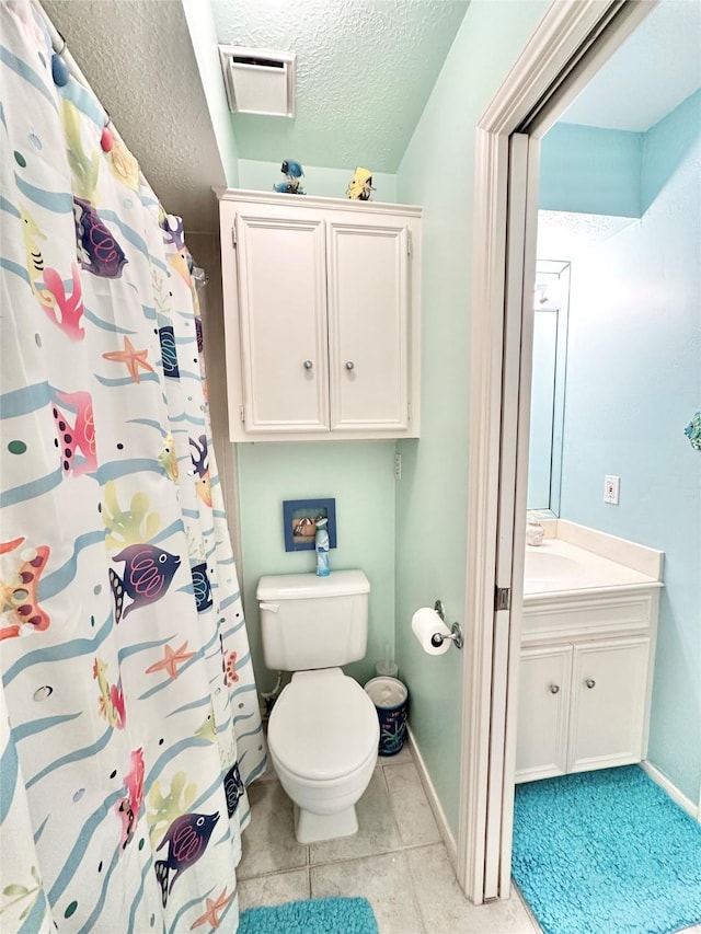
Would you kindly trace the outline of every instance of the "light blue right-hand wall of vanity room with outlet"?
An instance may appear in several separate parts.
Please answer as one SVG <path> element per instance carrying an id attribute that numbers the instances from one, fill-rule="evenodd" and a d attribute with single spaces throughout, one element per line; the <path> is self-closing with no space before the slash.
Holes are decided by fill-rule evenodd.
<path id="1" fill-rule="evenodd" d="M 572 264 L 561 509 L 665 552 L 648 759 L 694 805 L 701 454 L 683 429 L 701 402 L 700 102 L 646 134 L 643 187 L 663 187 L 643 218 Z M 619 506 L 602 501 L 606 474 Z"/>

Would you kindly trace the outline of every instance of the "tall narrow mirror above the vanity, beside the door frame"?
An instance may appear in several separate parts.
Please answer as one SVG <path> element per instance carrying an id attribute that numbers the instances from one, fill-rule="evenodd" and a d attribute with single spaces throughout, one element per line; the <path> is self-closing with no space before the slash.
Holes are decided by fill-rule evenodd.
<path id="1" fill-rule="evenodd" d="M 533 297 L 533 374 L 527 508 L 560 515 L 570 263 L 539 260 Z"/>

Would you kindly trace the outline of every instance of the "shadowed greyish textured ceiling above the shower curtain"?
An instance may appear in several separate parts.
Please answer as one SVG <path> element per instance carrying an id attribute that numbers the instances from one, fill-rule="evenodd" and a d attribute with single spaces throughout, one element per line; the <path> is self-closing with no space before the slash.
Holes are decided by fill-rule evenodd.
<path id="1" fill-rule="evenodd" d="M 164 208 L 216 230 L 226 178 L 180 0 L 42 0 Z"/>

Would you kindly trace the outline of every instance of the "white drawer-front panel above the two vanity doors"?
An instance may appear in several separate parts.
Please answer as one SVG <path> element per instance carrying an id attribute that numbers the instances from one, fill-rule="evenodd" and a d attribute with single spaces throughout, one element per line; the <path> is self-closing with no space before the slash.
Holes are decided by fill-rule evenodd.
<path id="1" fill-rule="evenodd" d="M 530 598 L 524 603 L 521 642 L 644 633 L 657 616 L 658 599 L 657 588 Z"/>

